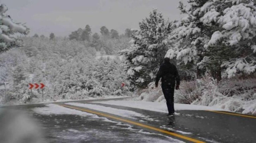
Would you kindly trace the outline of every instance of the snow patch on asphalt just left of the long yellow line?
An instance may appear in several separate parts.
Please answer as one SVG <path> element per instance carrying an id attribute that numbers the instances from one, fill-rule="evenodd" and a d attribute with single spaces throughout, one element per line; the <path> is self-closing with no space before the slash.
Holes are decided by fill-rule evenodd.
<path id="1" fill-rule="evenodd" d="M 68 115 L 88 116 L 90 118 L 103 119 L 103 121 L 106 121 L 106 122 L 118 123 L 115 121 L 111 121 L 105 117 L 99 117 L 95 114 L 78 111 L 75 109 L 69 109 L 57 104 L 47 104 L 46 107 L 37 107 L 37 108 L 34 108 L 33 111 L 38 114 L 46 114 L 46 115 L 50 115 L 50 114 L 55 114 L 55 115 L 66 114 L 67 115 L 68 114 Z"/>

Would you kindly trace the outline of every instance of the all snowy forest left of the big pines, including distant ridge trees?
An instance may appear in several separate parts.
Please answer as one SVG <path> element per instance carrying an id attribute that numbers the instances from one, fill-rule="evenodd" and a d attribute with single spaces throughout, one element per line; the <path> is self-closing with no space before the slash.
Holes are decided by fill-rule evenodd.
<path id="1" fill-rule="evenodd" d="M 49 37 L 35 34 L 14 38 L 13 34 L 26 35 L 29 29 L 6 16 L 5 5 L 1 5 L 0 11 L 1 51 L 5 51 L 0 54 L 0 79 L 10 84 L 8 102 L 75 100 L 123 95 L 128 91 L 127 87 L 120 88 L 121 83 L 129 85 L 120 57 L 96 59 L 95 56 L 96 52 L 115 54 L 128 48 L 129 29 L 120 36 L 113 29 L 109 35 L 91 35 L 90 26 L 86 25 L 68 38 L 56 37 L 54 33 Z M 103 29 L 108 31 L 106 27 Z M 33 89 L 31 93 L 28 83 L 44 83 L 47 88 L 43 93 L 41 89 Z M 1 102 L 6 102 L 5 96 L 1 96 Z"/>

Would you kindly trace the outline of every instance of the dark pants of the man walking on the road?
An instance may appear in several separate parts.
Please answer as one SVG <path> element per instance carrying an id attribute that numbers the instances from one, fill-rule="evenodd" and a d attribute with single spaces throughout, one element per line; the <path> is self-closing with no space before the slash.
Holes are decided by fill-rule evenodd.
<path id="1" fill-rule="evenodd" d="M 162 83 L 162 90 L 164 93 L 169 114 L 174 113 L 174 87 L 175 87 L 175 83 L 174 84 L 172 83 L 170 85 L 168 84 L 166 85 Z"/>

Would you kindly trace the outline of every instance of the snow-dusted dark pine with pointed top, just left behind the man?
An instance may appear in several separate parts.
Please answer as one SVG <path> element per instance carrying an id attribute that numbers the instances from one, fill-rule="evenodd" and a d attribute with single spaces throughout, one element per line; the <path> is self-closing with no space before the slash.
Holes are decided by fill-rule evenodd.
<path id="1" fill-rule="evenodd" d="M 152 82 L 168 50 L 166 39 L 171 33 L 171 23 L 154 9 L 149 18 L 139 23 L 139 27 L 139 30 L 133 30 L 133 46 L 120 53 L 126 57 L 131 83 L 145 88 Z"/>

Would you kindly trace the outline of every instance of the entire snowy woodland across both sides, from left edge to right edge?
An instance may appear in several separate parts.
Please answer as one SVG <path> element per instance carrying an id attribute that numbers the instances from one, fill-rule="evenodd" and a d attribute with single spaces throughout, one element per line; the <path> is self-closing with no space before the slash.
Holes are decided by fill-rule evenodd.
<path id="1" fill-rule="evenodd" d="M 153 81 L 164 57 L 170 57 L 182 77 L 181 89 L 175 93 L 177 103 L 256 114 L 255 1 L 189 0 L 178 8 L 180 20 L 169 21 L 154 9 L 138 21 L 139 29 L 127 28 L 124 34 L 105 26 L 93 33 L 85 25 L 63 38 L 54 33 L 14 38 L 15 33 L 27 35 L 29 28 L 14 23 L 1 5 L 0 80 L 12 87 L 8 101 L 127 92 L 138 95 L 136 100 L 163 101 Z M 121 56 L 96 59 L 96 53 Z M 41 90 L 30 93 L 30 82 L 46 84 L 44 97 Z M 121 83 L 125 89 L 121 90 Z"/>

